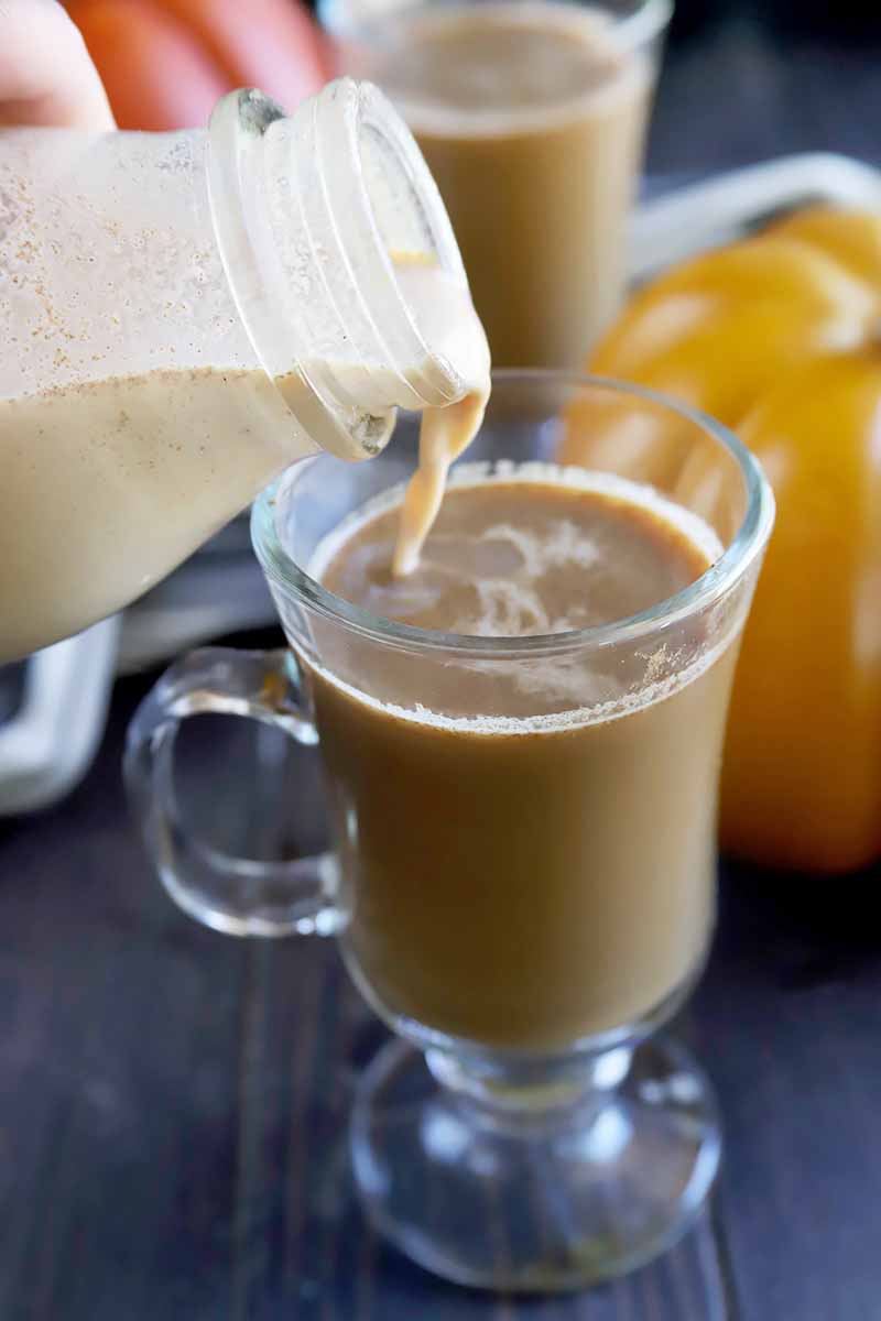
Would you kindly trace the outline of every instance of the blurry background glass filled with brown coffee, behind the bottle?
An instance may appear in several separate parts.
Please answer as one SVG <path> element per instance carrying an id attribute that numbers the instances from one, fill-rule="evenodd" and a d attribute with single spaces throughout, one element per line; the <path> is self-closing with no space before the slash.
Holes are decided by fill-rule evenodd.
<path id="1" fill-rule="evenodd" d="M 551 0 L 396 12 L 375 37 L 357 67 L 416 135 L 494 363 L 584 362 L 623 287 L 647 57 L 621 54 L 600 11 Z"/>

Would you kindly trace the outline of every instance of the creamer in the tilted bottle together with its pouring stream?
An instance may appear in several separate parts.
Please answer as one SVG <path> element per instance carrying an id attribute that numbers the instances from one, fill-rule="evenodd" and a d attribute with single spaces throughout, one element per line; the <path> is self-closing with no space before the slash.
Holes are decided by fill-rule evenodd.
<path id="1" fill-rule="evenodd" d="M 466 288 L 424 262 L 402 259 L 398 277 L 465 395 L 427 415 L 403 530 L 405 569 L 440 502 L 449 458 L 479 425 L 489 357 Z M 350 365 L 304 370 L 335 374 L 365 407 L 409 398 L 392 371 L 366 382 Z M 305 416 L 308 399 L 299 373 L 273 383 L 259 369 L 203 367 L 0 400 L 0 663 L 128 605 L 288 464 L 317 452 L 295 416 Z"/>

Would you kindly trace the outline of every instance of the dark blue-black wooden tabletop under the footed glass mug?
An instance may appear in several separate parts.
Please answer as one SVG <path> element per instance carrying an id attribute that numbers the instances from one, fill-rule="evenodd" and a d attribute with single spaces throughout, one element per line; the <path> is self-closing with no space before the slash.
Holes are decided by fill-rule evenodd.
<path id="1" fill-rule="evenodd" d="M 674 54 L 652 166 L 878 156 L 880 61 L 728 25 Z M 0 824 L 0 1321 L 881 1318 L 881 872 L 724 876 L 682 1024 L 726 1125 L 699 1229 L 577 1297 L 470 1293 L 376 1242 L 354 1201 L 347 1108 L 384 1033 L 333 947 L 213 935 L 153 880 L 119 777 L 145 687 L 118 686 L 67 802 Z"/>

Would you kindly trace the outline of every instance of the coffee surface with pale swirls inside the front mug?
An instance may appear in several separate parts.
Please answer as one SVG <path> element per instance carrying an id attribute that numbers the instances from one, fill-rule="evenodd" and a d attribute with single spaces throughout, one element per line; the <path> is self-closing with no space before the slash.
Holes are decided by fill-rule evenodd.
<path id="1" fill-rule="evenodd" d="M 395 579 L 399 498 L 387 491 L 346 519 L 318 547 L 313 575 L 371 614 L 470 637 L 626 618 L 687 585 L 721 550 L 687 510 L 606 474 L 465 465 L 417 569 Z"/>

